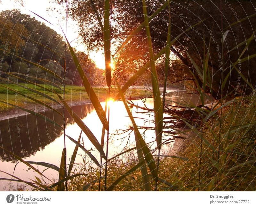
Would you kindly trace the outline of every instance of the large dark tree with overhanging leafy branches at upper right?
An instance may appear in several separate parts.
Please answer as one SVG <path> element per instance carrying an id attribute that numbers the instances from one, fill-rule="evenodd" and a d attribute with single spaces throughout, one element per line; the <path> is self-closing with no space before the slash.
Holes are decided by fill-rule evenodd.
<path id="1" fill-rule="evenodd" d="M 59 4 L 64 3 L 64 1 L 61 0 L 58 2 Z M 100 19 L 103 19 L 104 1 L 68 1 L 69 14 L 74 20 L 78 21 L 79 33 L 83 37 L 83 42 L 88 50 L 103 47 L 101 27 L 92 7 L 93 2 Z M 111 2 L 111 38 L 113 43 L 112 55 L 114 55 L 115 50 L 125 40 L 127 35 L 143 22 L 143 12 L 141 1 L 112 0 Z M 146 1 L 148 5 L 148 15 L 150 16 L 155 12 L 164 2 L 164 0 Z M 228 93 L 234 90 L 235 82 L 239 74 L 236 70 L 230 72 L 232 69 L 230 65 L 236 62 L 244 49 L 244 45 L 233 51 L 230 50 L 248 39 L 254 33 L 256 29 L 256 17 L 250 16 L 255 14 L 255 7 L 256 3 L 251 1 L 171 1 L 170 16 L 172 39 L 186 31 L 171 47 L 172 53 L 176 58 L 180 59 L 180 64 L 183 65 L 182 69 L 184 69 L 184 74 L 187 74 L 184 79 L 191 79 L 189 75 L 190 70 L 194 73 L 193 77 L 198 81 L 197 86 L 202 87 L 202 77 L 196 72 L 195 65 L 192 64 L 191 58 L 202 68 L 202 60 L 207 54 L 207 48 L 211 40 L 208 68 L 212 83 L 208 83 L 208 87 L 205 88 L 205 91 L 211 92 L 215 98 L 220 98 L 219 88 L 222 67 L 224 69 L 227 68 L 227 70 L 223 71 L 224 77 L 228 75 L 228 82 L 223 88 L 223 92 Z M 149 23 L 155 53 L 165 46 L 168 21 L 169 11 L 166 7 Z M 234 22 L 238 22 L 238 24 L 232 25 Z M 193 26 L 195 24 L 197 25 Z M 229 30 L 229 32 L 222 47 L 221 38 L 227 30 Z M 114 56 L 116 62 L 114 75 L 116 74 L 119 77 L 121 76 L 127 79 L 127 75 L 130 75 L 130 73 L 133 73 L 134 70 L 137 70 L 146 63 L 148 61 L 148 49 L 146 45 L 145 30 L 142 29 L 129 41 L 123 50 Z M 255 54 L 255 40 L 250 42 L 250 45 L 241 58 L 253 54 Z M 221 61 L 218 59 L 219 56 L 221 57 Z M 163 60 L 164 58 L 162 58 L 162 61 Z M 161 66 L 161 63 L 159 65 Z M 245 77 L 244 79 L 250 78 L 252 84 L 256 81 L 255 70 L 252 70 L 254 65 L 254 59 L 241 64 L 243 68 L 241 72 Z M 174 69 L 172 71 L 176 69 L 180 70 L 180 67 L 175 69 L 175 64 L 173 64 L 172 67 Z M 162 67 L 158 67 L 158 69 L 161 73 Z M 179 72 L 177 73 L 177 77 L 178 76 Z M 180 78 L 178 78 L 178 80 L 180 80 Z M 240 87 L 244 92 L 250 92 L 251 89 L 246 86 L 245 80 L 241 80 L 240 83 Z"/>

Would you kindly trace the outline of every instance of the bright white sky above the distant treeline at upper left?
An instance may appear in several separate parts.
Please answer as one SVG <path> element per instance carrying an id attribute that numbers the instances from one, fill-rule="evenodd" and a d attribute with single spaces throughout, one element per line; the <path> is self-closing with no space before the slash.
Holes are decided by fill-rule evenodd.
<path id="1" fill-rule="evenodd" d="M 63 31 L 66 30 L 66 8 L 55 3 L 51 4 L 52 7 L 55 6 L 56 8 L 63 10 L 63 12 L 61 12 L 63 16 L 60 16 L 61 14 L 59 13 L 47 11 L 50 7 L 49 0 L 23 0 L 23 3 L 26 8 L 22 7 L 21 4 L 19 4 L 19 1 L 15 2 L 14 0 L 1 0 L 0 11 L 19 9 L 21 13 L 29 14 L 31 17 L 35 17 L 38 21 L 44 22 L 47 26 L 51 27 L 58 34 L 64 37 L 61 28 L 63 29 Z M 48 22 L 44 21 L 42 18 L 33 14 L 31 11 L 51 22 L 53 26 Z M 68 18 L 67 38 L 69 41 L 73 41 L 74 39 L 76 39 L 75 41 L 70 43 L 71 46 L 75 47 L 79 51 L 84 51 L 85 53 L 88 53 L 87 51 L 85 51 L 84 45 L 79 43 L 79 39 L 77 39 L 77 24 L 71 18 Z M 89 56 L 99 68 L 105 69 L 105 61 L 102 52 L 90 52 Z"/>

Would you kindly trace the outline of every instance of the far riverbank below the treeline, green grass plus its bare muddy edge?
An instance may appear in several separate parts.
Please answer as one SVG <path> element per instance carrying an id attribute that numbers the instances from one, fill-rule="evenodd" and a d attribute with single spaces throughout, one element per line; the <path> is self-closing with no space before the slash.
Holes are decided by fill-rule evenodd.
<path id="1" fill-rule="evenodd" d="M 4 86 L 7 86 L 4 85 Z M 49 86 L 42 85 L 47 89 L 51 89 Z M 0 120 L 13 118 L 16 116 L 21 116 L 28 114 L 25 110 L 22 110 L 18 107 L 22 107 L 27 110 L 32 110 L 35 112 L 43 112 L 46 110 L 50 110 L 48 107 L 36 103 L 35 101 L 29 99 L 28 97 L 22 96 L 19 93 L 26 94 L 27 96 L 30 96 L 36 100 L 39 100 L 43 102 L 44 104 L 47 104 L 51 106 L 54 109 L 61 108 L 62 105 L 57 103 L 60 102 L 59 98 L 56 94 L 50 91 L 45 91 L 43 88 L 35 87 L 34 85 L 28 85 L 28 87 L 35 89 L 38 93 L 42 92 L 45 95 L 51 97 L 53 100 L 50 100 L 47 97 L 41 96 L 39 94 L 35 94 L 31 91 L 25 91 L 26 89 L 22 87 L 18 87 L 17 85 L 8 85 L 10 89 L 7 89 L 3 86 L 0 86 L 0 100 L 10 103 L 12 105 L 5 104 L 3 102 L 0 102 Z M 95 86 L 93 87 L 95 93 L 97 94 L 100 102 L 104 102 L 106 100 L 106 93 L 107 89 L 104 87 Z M 55 89 L 56 92 L 59 92 L 61 94 L 61 91 L 59 89 Z M 114 98 L 117 91 L 112 90 L 111 97 Z M 132 99 L 137 99 L 141 97 L 152 97 L 152 92 L 138 88 L 138 89 L 132 89 L 130 90 L 129 97 Z M 56 101 L 54 101 L 56 100 Z M 84 87 L 81 86 L 72 86 L 68 85 L 65 88 L 65 100 L 69 104 L 69 106 L 77 106 L 77 105 L 83 105 L 91 103 L 89 96 L 85 92 Z"/>

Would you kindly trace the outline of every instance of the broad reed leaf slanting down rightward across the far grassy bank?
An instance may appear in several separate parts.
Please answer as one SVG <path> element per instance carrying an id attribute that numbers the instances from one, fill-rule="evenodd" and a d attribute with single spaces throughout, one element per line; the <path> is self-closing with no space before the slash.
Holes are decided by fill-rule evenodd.
<path id="1" fill-rule="evenodd" d="M 66 38 L 66 40 L 67 40 L 67 38 Z M 68 42 L 68 40 L 67 40 L 67 42 Z M 94 90 L 93 90 L 91 84 L 89 83 L 87 77 L 85 76 L 84 71 L 83 71 L 83 69 L 82 69 L 82 67 L 81 67 L 81 65 L 80 65 L 80 63 L 79 63 L 79 61 L 76 57 L 76 54 L 75 54 L 73 48 L 70 46 L 69 42 L 68 42 L 68 47 L 69 47 L 70 53 L 72 55 L 73 61 L 76 65 L 76 68 L 79 72 L 79 75 L 82 78 L 84 88 L 85 88 L 90 100 L 92 101 L 92 105 L 93 105 L 101 123 L 103 124 L 104 128 L 106 130 L 108 130 L 108 120 L 105 116 L 105 112 L 103 111 L 102 106 L 100 105 L 100 101 L 99 101 L 98 97 L 96 96 L 96 93 L 94 92 Z"/>

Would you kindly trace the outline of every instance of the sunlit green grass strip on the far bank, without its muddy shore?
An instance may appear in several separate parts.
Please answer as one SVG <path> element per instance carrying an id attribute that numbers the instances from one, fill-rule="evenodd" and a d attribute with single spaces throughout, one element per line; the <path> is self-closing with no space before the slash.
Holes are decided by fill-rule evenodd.
<path id="1" fill-rule="evenodd" d="M 40 100 L 40 101 L 44 102 L 45 104 L 50 104 L 50 105 L 56 104 L 52 100 L 44 98 L 44 96 L 35 94 L 34 92 L 32 92 L 28 89 L 25 89 L 23 87 L 17 86 L 15 84 L 9 84 L 9 85 L 2 84 L 2 85 L 3 86 L 0 85 L 0 100 L 8 102 L 10 104 L 17 105 L 20 107 L 24 107 L 25 103 L 34 105 L 35 102 L 33 100 L 29 99 L 28 97 L 26 98 L 23 95 L 30 96 L 36 100 Z M 20 84 L 20 85 L 25 86 L 25 84 Z M 6 87 L 8 86 L 10 89 L 8 89 L 4 86 L 6 86 Z M 57 95 L 54 92 L 47 91 L 44 88 L 49 89 L 49 90 L 54 90 L 57 93 L 59 93 L 60 95 L 63 94 L 63 91 L 61 89 L 53 88 L 50 85 L 41 85 L 44 88 L 38 87 L 38 86 L 35 86 L 32 84 L 27 84 L 26 86 L 28 88 L 37 90 L 38 92 L 42 92 L 45 95 L 48 95 L 58 101 L 59 101 L 59 98 L 57 97 Z M 95 87 L 93 87 L 93 89 L 94 89 L 95 93 L 97 94 L 97 96 L 99 97 L 99 100 L 105 101 L 107 88 L 95 86 Z M 22 93 L 23 95 L 20 95 L 17 92 Z M 114 98 L 116 93 L 117 93 L 116 90 L 112 90 L 111 96 Z M 145 97 L 145 96 L 152 97 L 152 92 L 150 92 L 148 90 L 144 90 L 144 89 L 131 89 L 130 94 L 127 94 L 127 95 L 128 95 L 128 97 L 131 97 L 131 98 L 139 98 L 139 97 Z M 76 102 L 81 102 L 81 101 L 82 102 L 89 101 L 89 97 L 88 97 L 87 93 L 84 91 L 84 86 L 67 85 L 67 86 L 65 86 L 65 100 L 68 103 L 71 103 L 71 102 L 76 103 Z M 0 112 L 7 111 L 8 108 L 12 109 L 14 107 L 0 102 Z"/>

